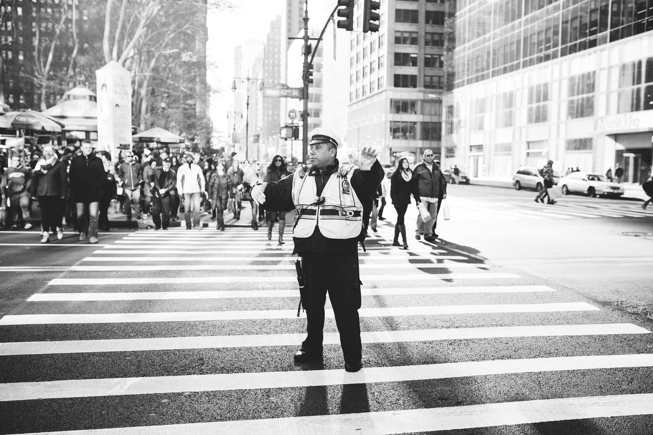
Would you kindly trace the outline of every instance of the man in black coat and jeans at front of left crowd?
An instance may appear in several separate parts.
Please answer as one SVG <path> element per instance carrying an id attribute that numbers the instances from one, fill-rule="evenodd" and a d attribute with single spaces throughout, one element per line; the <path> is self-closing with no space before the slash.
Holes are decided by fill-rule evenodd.
<path id="1" fill-rule="evenodd" d="M 93 143 L 82 140 L 81 155 L 72 157 L 69 172 L 71 195 L 77 212 L 80 240 L 97 243 L 97 219 L 104 187 L 104 165 L 93 154 Z"/>

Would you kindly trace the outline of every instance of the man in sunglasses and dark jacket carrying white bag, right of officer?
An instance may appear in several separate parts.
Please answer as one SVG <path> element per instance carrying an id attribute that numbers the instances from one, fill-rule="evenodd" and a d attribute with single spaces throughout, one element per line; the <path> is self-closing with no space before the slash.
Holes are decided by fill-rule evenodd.
<path id="1" fill-rule="evenodd" d="M 444 174 L 433 161 L 433 151 L 424 150 L 422 161 L 413 169 L 413 196 L 417 206 L 426 208 L 430 219 L 422 219 L 417 215 L 417 229 L 415 238 L 424 236 L 426 242 L 436 241 L 438 234 L 433 233 L 434 221 L 438 219 L 438 203 L 447 197 L 447 180 Z"/>

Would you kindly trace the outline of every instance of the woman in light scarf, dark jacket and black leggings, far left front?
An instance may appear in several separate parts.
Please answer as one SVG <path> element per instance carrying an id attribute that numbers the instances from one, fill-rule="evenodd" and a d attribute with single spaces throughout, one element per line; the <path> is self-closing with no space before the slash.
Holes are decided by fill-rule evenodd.
<path id="1" fill-rule="evenodd" d="M 61 219 L 63 201 L 68 194 L 68 173 L 65 165 L 57 159 L 51 144 L 43 146 L 43 155 L 34 167 L 32 196 L 39 199 L 41 211 L 41 243 L 50 242 L 50 231 L 63 238 Z"/>

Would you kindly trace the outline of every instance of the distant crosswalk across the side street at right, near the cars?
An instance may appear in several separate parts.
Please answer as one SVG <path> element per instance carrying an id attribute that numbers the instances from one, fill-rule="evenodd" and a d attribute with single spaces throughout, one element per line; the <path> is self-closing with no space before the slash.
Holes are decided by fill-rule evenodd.
<path id="1" fill-rule="evenodd" d="M 653 216 L 650 210 L 643 210 L 641 202 L 629 201 L 592 201 L 590 199 L 573 199 L 563 197 L 555 205 L 534 202 L 532 199 L 519 198 L 495 201 L 454 198 L 447 200 L 456 221 L 522 221 L 550 219 L 600 219 L 606 217 L 637 217 Z"/>

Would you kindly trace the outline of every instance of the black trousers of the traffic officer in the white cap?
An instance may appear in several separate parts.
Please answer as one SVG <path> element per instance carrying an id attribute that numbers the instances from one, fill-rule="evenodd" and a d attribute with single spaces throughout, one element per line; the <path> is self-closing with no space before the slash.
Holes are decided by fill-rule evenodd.
<path id="1" fill-rule="evenodd" d="M 360 361 L 360 278 L 358 253 L 309 253 L 302 256 L 302 269 L 308 291 L 302 297 L 306 310 L 306 340 L 302 350 L 322 353 L 327 293 L 340 332 L 340 344 L 345 362 Z M 307 300 L 308 299 L 308 300 Z"/>

